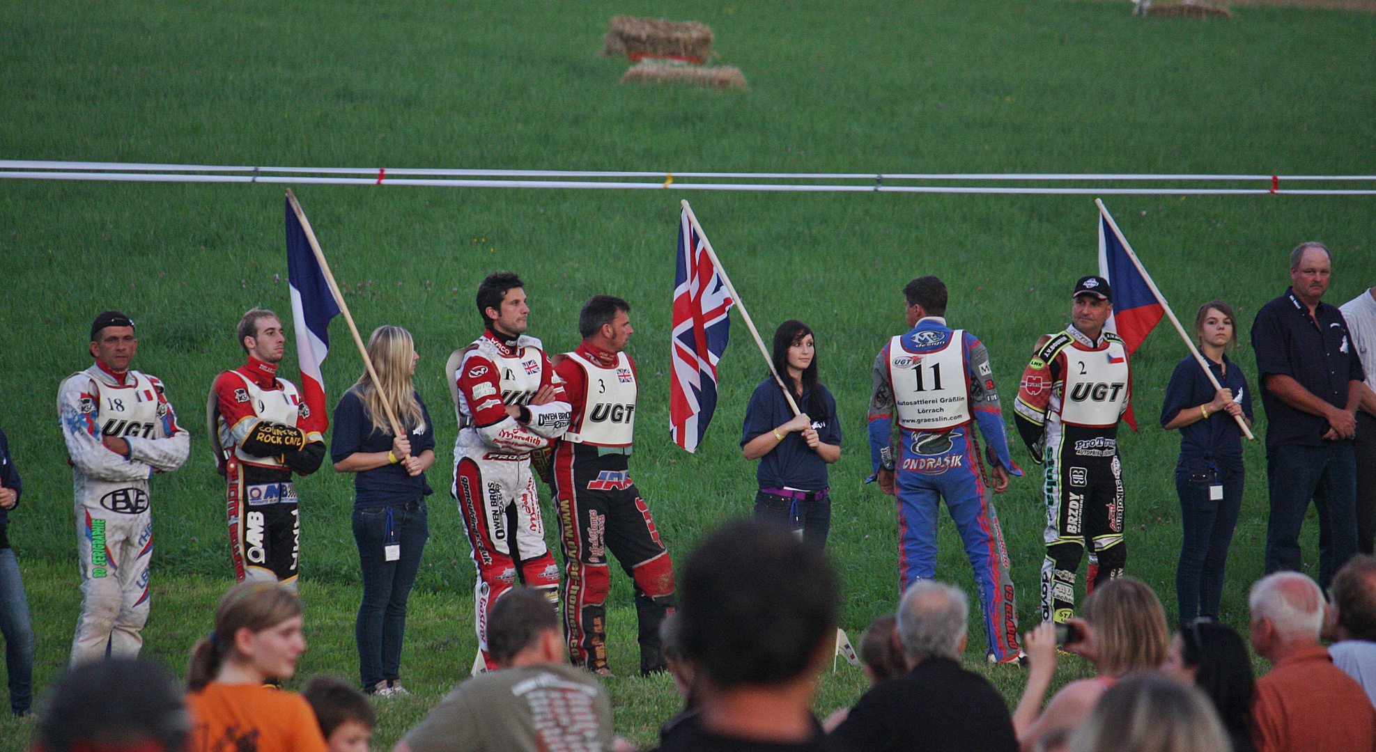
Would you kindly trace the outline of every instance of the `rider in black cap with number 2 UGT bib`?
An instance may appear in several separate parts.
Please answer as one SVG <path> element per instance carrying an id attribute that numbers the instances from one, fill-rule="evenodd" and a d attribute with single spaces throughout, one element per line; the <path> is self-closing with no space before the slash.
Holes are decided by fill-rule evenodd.
<path id="1" fill-rule="evenodd" d="M 1032 458 L 1046 463 L 1042 619 L 1075 613 L 1075 577 L 1090 550 L 1088 588 L 1123 575 L 1123 466 L 1117 423 L 1132 389 L 1123 340 L 1104 324 L 1113 291 L 1099 276 L 1075 283 L 1072 324 L 1038 340 L 1014 418 Z"/>

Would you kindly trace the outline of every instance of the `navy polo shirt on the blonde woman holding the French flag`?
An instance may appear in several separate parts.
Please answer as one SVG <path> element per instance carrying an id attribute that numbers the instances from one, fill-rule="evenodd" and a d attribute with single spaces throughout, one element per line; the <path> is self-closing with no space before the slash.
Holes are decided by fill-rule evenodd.
<path id="1" fill-rule="evenodd" d="M 418 455 L 425 450 L 435 450 L 435 423 L 429 419 L 429 411 L 425 410 L 420 395 L 416 395 L 416 401 L 420 403 L 421 415 L 425 417 L 425 428 L 411 430 L 407 439 L 411 441 L 411 454 Z M 391 448 L 392 436 L 377 430 L 358 392 L 354 389 L 344 392 L 334 407 L 330 461 L 338 462 L 354 452 L 385 452 Z M 410 476 L 399 463 L 354 473 L 354 509 L 407 505 L 431 494 L 433 491 L 425 483 L 425 473 Z"/>

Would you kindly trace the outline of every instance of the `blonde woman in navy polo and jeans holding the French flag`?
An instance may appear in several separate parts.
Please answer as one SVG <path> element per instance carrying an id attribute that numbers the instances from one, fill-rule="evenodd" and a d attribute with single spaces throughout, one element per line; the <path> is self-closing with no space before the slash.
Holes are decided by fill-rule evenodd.
<path id="1" fill-rule="evenodd" d="M 367 356 L 383 382 L 387 403 L 403 434 L 392 428 L 367 371 L 334 408 L 330 458 L 354 476 L 354 542 L 363 569 L 363 602 L 354 637 L 363 692 L 381 697 L 410 694 L 402 687 L 402 635 L 406 598 L 416 584 L 429 538 L 425 470 L 435 463 L 435 426 L 416 393 L 416 344 L 411 333 L 383 326 L 367 340 Z"/>

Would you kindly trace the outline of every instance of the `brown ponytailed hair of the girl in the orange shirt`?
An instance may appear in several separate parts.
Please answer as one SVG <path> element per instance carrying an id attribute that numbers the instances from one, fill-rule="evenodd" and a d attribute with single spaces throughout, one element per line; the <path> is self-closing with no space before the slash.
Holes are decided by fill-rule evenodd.
<path id="1" fill-rule="evenodd" d="M 215 631 L 191 648 L 186 672 L 187 692 L 201 692 L 220 672 L 220 664 L 234 652 L 234 635 L 275 627 L 301 616 L 301 601 L 277 583 L 239 583 L 220 598 L 215 609 Z"/>

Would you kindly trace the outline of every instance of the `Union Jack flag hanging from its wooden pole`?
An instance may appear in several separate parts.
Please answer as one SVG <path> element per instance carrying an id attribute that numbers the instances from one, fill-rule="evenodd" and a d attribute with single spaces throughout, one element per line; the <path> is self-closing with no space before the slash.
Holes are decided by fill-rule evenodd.
<path id="1" fill-rule="evenodd" d="M 684 209 L 678 220 L 674 271 L 674 327 L 670 341 L 669 433 L 674 444 L 698 450 L 717 410 L 717 362 L 731 333 L 728 312 L 736 301 L 707 253 L 705 238 Z"/>

